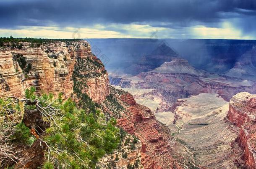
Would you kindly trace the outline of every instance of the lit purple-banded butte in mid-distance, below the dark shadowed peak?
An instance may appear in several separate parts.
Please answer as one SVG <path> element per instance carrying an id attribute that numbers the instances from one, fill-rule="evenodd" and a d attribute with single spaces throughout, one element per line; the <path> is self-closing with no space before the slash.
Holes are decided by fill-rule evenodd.
<path id="1" fill-rule="evenodd" d="M 136 76 L 112 76 L 110 83 L 126 91 L 133 90 L 136 101 L 145 106 L 149 102 L 159 103 L 152 109 L 154 112 L 171 111 L 177 99 L 200 93 L 217 93 L 226 101 L 239 92 L 256 93 L 255 81 L 210 74 L 180 58 Z"/>

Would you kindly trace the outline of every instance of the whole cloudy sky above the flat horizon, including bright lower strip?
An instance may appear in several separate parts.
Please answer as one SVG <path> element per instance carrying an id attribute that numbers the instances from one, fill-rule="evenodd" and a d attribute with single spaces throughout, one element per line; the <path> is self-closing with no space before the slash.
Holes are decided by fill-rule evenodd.
<path id="1" fill-rule="evenodd" d="M 0 37 L 256 39 L 256 0 L 1 0 Z"/>

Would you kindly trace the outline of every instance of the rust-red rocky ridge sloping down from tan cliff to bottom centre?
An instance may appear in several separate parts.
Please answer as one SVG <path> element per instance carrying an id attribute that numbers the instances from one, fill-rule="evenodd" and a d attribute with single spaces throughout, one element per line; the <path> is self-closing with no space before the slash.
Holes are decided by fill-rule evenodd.
<path id="1" fill-rule="evenodd" d="M 104 112 L 118 119 L 118 125 L 141 140 L 141 164 L 144 169 L 181 168 L 178 159 L 172 157 L 175 139 L 167 126 L 160 124 L 152 111 L 134 100 L 125 91 L 110 88 L 113 98 L 102 103 Z M 180 158 L 182 159 L 182 158 Z"/>

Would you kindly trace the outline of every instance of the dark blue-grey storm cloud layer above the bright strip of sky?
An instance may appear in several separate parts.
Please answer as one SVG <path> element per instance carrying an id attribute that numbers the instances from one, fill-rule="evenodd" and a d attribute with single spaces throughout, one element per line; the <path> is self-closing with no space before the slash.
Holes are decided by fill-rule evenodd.
<path id="1" fill-rule="evenodd" d="M 147 23 L 182 28 L 217 27 L 223 19 L 256 18 L 256 0 L 2 0 L 0 27 Z M 254 24 L 239 25 L 251 30 Z M 255 28 L 255 27 L 254 27 Z"/>

